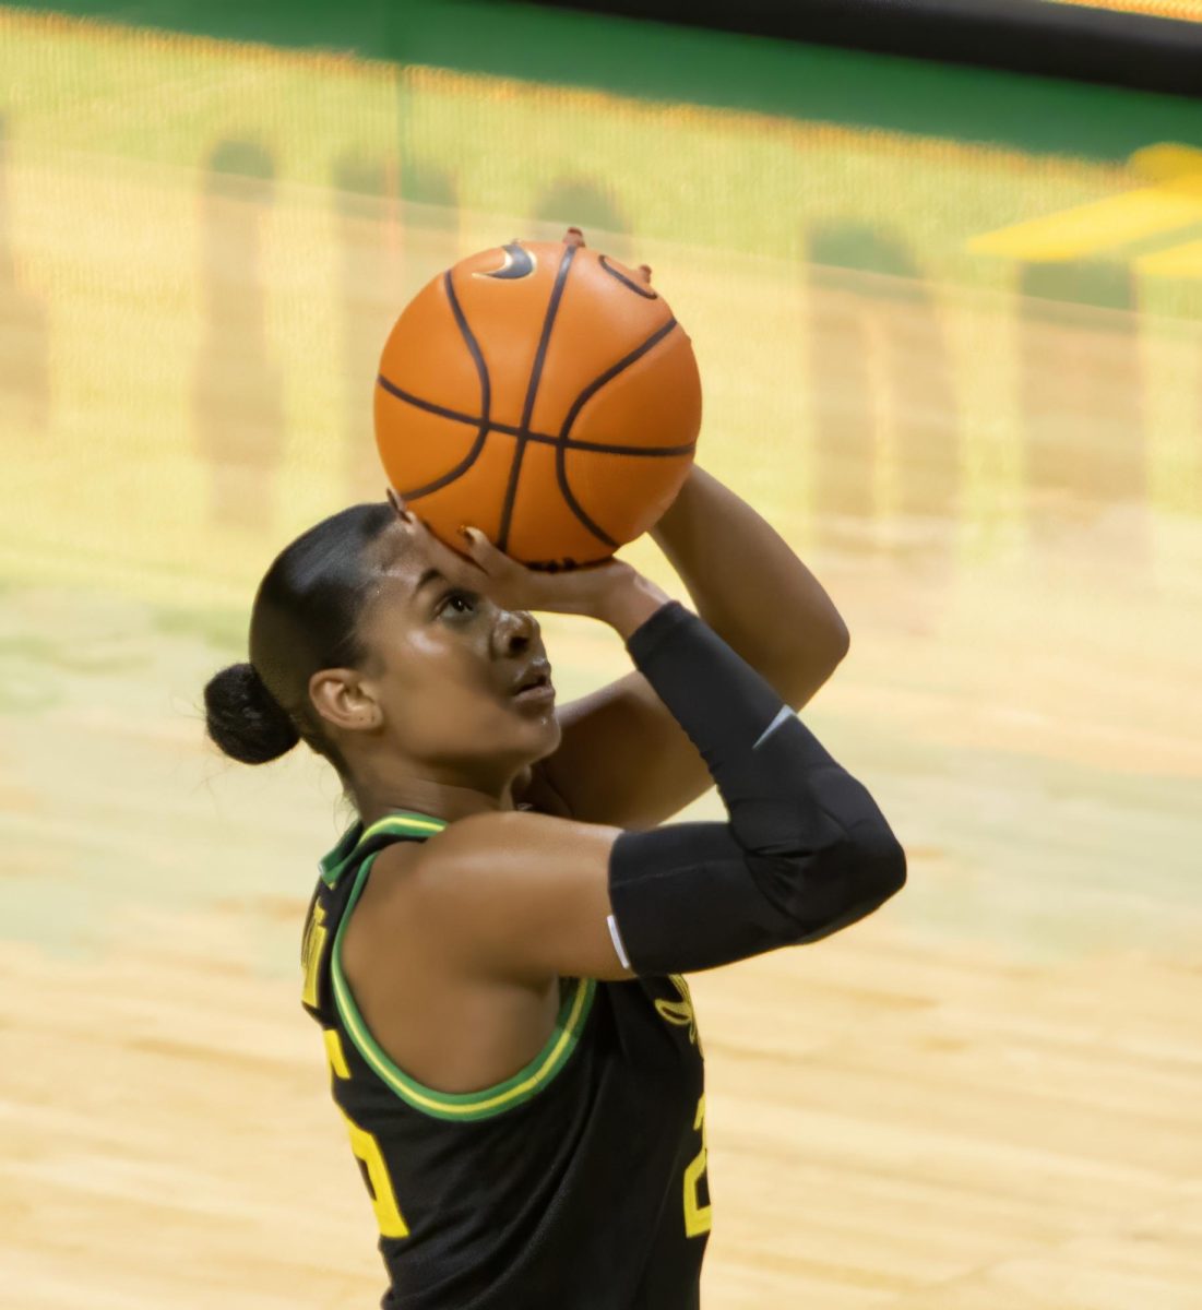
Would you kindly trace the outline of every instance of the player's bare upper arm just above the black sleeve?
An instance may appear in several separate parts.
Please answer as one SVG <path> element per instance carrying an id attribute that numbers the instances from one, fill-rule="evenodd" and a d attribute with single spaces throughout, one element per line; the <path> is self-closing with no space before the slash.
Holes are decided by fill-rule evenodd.
<path id="1" fill-rule="evenodd" d="M 473 973 L 625 980 L 608 922 L 621 828 L 529 811 L 469 815 L 423 844 L 411 912 Z"/>

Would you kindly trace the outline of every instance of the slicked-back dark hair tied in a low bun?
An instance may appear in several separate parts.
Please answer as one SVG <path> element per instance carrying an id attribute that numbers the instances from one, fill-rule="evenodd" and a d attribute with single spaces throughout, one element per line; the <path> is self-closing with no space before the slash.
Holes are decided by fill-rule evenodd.
<path id="1" fill-rule="evenodd" d="M 225 755 L 266 764 L 304 740 L 347 777 L 309 679 L 367 658 L 357 621 L 377 576 L 369 548 L 394 519 L 388 502 L 352 504 L 276 555 L 250 612 L 250 662 L 223 668 L 204 686 L 206 727 Z"/>

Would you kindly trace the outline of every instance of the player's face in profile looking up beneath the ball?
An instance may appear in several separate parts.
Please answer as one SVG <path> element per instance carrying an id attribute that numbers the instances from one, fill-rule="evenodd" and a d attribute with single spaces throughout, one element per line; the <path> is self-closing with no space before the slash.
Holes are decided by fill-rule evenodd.
<path id="1" fill-rule="evenodd" d="M 390 741 L 414 765 L 491 787 L 559 744 L 554 698 L 512 692 L 526 665 L 547 656 L 529 610 L 501 609 L 443 576 L 423 583 L 445 549 L 399 519 L 385 529 L 360 625 L 371 690 Z"/>

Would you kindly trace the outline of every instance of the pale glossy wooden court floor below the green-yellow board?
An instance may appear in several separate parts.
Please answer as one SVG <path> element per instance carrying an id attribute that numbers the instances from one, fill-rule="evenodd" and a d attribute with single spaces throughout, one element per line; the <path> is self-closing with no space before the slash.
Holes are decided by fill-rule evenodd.
<path id="1" fill-rule="evenodd" d="M 297 964 L 348 815 L 313 760 L 220 760 L 200 688 L 271 555 L 382 490 L 397 287 L 558 227 L 50 148 L 3 179 L 0 1305 L 372 1306 Z M 1013 297 L 936 288 L 955 385 L 917 351 L 898 388 L 883 352 L 930 318 L 892 279 L 638 254 L 698 350 L 698 462 L 850 626 L 803 717 L 910 863 L 869 921 L 690 979 L 702 1303 L 1202 1306 L 1202 333 L 1123 317 L 1173 381 L 1147 486 L 1037 483 Z M 1116 317 L 1041 321 L 1023 367 L 1101 386 Z M 687 600 L 649 540 L 623 555 Z M 562 701 L 627 669 L 541 617 Z"/>

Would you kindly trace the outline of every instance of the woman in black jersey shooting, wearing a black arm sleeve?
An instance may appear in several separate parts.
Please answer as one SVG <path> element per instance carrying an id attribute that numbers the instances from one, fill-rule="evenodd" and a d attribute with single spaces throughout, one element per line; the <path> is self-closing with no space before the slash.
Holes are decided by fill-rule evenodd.
<path id="1" fill-rule="evenodd" d="M 704 515 L 721 563 L 689 544 Z M 388 1310 L 697 1310 L 683 975 L 825 937 L 905 883 L 880 810 L 791 709 L 846 650 L 825 592 L 699 469 L 669 516 L 656 540 L 775 684 L 625 562 L 536 572 L 481 533 L 460 555 L 393 499 L 275 559 L 250 663 L 206 688 L 223 751 L 302 739 L 357 811 L 319 863 L 302 1000 Z M 556 714 L 532 609 L 609 624 L 636 672 Z M 657 827 L 711 782 L 724 823 Z"/>

